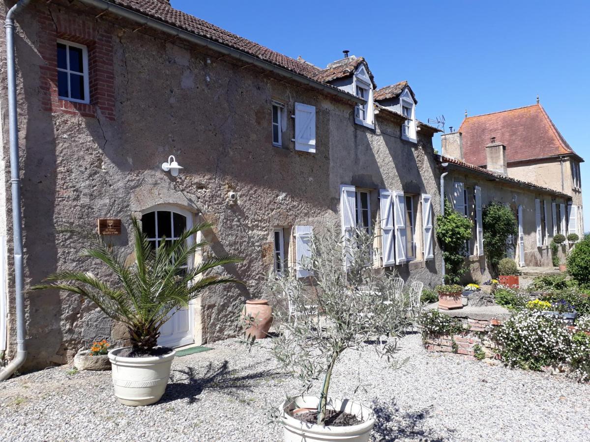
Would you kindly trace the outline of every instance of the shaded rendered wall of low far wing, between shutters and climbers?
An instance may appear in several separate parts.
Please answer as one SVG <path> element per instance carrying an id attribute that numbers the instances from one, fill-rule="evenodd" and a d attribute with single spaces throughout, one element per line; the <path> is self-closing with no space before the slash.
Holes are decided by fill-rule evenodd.
<path id="1" fill-rule="evenodd" d="M 549 243 L 553 236 L 553 221 L 552 221 L 552 209 L 551 204 L 553 201 L 556 203 L 565 203 L 562 198 L 555 198 L 553 194 L 548 192 L 535 192 L 533 190 L 527 190 L 520 186 L 512 186 L 511 184 L 492 181 L 463 171 L 452 171 L 445 180 L 445 192 L 448 199 L 453 201 L 453 183 L 462 182 L 469 194 L 473 194 L 475 186 L 481 187 L 481 204 L 486 206 L 491 202 L 500 202 L 507 204 L 512 209 L 514 217 L 517 219 L 518 206 L 522 205 L 523 210 L 523 232 L 525 234 L 525 266 L 552 266 L 551 252 L 549 249 Z M 537 247 L 537 223 L 535 215 L 535 199 L 541 201 L 541 212 L 543 213 L 543 201 L 547 208 L 547 235 L 544 238 L 542 246 Z M 471 200 L 471 198 L 470 198 Z M 475 216 L 472 213 L 471 219 L 475 220 Z M 559 222 L 559 221 L 558 221 Z M 476 236 L 472 241 L 476 242 Z M 516 239 L 514 239 L 516 242 Z M 485 243 L 484 243 L 485 249 Z M 513 252 L 514 259 L 519 262 L 519 248 L 516 242 L 516 250 Z M 489 267 L 486 263 L 485 255 L 477 256 L 471 255 L 466 259 L 466 263 L 469 266 L 469 271 L 464 276 L 466 282 L 475 281 L 478 283 L 491 279 Z"/>

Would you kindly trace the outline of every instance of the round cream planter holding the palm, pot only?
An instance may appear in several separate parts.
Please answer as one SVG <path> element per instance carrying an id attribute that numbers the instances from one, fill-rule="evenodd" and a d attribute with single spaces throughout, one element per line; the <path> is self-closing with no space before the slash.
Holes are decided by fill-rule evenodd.
<path id="1" fill-rule="evenodd" d="M 125 358 L 117 356 L 122 349 L 109 351 L 114 395 L 120 403 L 132 407 L 158 402 L 166 390 L 176 352 L 163 356 Z"/>

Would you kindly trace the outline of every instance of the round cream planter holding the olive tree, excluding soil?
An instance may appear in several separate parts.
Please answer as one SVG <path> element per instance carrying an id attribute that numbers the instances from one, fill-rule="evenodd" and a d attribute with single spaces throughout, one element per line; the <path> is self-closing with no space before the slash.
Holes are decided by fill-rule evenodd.
<path id="1" fill-rule="evenodd" d="M 284 427 L 285 442 L 367 442 L 371 436 L 371 430 L 375 424 L 375 414 L 369 407 L 352 402 L 328 398 L 327 408 L 330 410 L 342 410 L 354 414 L 362 424 L 350 425 L 350 427 L 324 427 L 323 425 L 307 424 L 291 417 L 290 411 L 297 408 L 317 408 L 319 398 L 317 396 L 300 396 L 284 401 L 279 408 L 281 423 Z"/>

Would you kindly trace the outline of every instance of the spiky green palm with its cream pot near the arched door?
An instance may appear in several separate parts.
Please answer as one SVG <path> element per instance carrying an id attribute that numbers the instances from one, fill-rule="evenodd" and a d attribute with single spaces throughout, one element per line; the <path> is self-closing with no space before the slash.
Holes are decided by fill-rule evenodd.
<path id="1" fill-rule="evenodd" d="M 86 235 L 94 245 L 82 256 L 107 266 L 114 278 L 100 279 L 91 272 L 61 271 L 48 276 L 32 289 L 59 289 L 84 296 L 105 315 L 122 322 L 129 332 L 130 347 L 109 351 L 113 368 L 114 393 L 124 405 L 148 405 L 164 394 L 173 349 L 159 347 L 160 328 L 172 313 L 195 299 L 205 288 L 239 282 L 230 276 L 205 275 L 209 269 L 240 262 L 232 257 L 209 258 L 186 269 L 196 250 L 207 243 L 192 242 L 196 233 L 211 227 L 202 223 L 185 230 L 178 240 L 162 240 L 156 250 L 141 231 L 139 220 L 132 219 L 135 262 L 127 265 L 122 248 L 104 237 Z M 113 284 L 111 281 L 116 281 Z"/>

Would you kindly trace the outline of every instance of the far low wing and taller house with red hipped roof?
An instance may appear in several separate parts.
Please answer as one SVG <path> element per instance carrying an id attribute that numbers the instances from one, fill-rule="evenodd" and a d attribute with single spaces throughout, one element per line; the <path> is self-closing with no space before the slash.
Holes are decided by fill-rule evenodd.
<path id="1" fill-rule="evenodd" d="M 467 278 L 489 279 L 480 209 L 499 201 L 519 223 L 513 258 L 521 267 L 552 266 L 550 242 L 558 233 L 582 237 L 582 160 L 540 104 L 467 117 L 457 132 L 441 137 L 445 192 L 455 209 L 474 221 L 468 242 Z M 559 249 L 560 259 L 566 245 Z"/>

